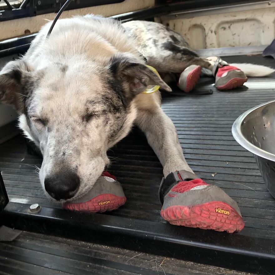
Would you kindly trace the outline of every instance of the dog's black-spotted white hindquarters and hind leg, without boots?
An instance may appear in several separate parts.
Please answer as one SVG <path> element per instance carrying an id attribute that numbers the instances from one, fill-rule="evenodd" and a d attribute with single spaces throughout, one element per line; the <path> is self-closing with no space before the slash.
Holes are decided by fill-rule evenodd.
<path id="1" fill-rule="evenodd" d="M 190 65 L 212 70 L 211 62 L 192 51 L 185 39 L 168 27 L 149 21 L 130 21 L 122 24 L 135 39 L 137 50 L 148 65 L 160 73 L 181 73 Z"/>

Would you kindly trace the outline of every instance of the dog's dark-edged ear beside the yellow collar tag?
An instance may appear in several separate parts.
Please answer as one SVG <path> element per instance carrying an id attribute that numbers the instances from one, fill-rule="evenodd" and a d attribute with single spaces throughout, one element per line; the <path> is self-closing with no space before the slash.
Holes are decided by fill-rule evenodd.
<path id="1" fill-rule="evenodd" d="M 114 57 L 110 71 L 126 91 L 127 97 L 131 99 L 151 85 L 159 85 L 166 91 L 172 91 L 153 70 L 127 57 Z"/>

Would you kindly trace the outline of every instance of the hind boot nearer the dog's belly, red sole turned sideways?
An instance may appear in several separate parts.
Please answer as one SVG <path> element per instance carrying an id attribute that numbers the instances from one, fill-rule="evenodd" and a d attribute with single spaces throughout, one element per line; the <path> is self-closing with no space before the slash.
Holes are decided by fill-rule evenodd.
<path id="1" fill-rule="evenodd" d="M 189 93 L 197 84 L 202 68 L 198 65 L 190 65 L 181 74 L 178 80 L 178 88 Z"/>

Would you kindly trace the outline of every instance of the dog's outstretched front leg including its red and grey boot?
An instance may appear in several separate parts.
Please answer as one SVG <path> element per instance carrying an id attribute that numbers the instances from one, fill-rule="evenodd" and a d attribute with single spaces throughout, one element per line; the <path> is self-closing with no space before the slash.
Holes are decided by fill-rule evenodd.
<path id="1" fill-rule="evenodd" d="M 145 100 L 146 98 L 148 100 Z M 183 156 L 175 126 L 150 95 L 137 100 L 136 123 L 163 165 L 161 216 L 175 225 L 234 232 L 244 227 L 237 203 L 197 177 Z M 156 98 L 155 98 L 156 99 Z"/>

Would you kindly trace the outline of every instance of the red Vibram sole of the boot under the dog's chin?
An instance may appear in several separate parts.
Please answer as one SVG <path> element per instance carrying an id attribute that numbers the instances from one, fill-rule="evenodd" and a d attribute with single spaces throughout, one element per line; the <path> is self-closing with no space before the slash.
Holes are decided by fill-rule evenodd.
<path id="1" fill-rule="evenodd" d="M 126 197 L 119 197 L 114 194 L 100 194 L 88 202 L 66 203 L 64 209 L 75 211 L 88 211 L 92 213 L 103 213 L 118 209 L 126 202 Z"/>

